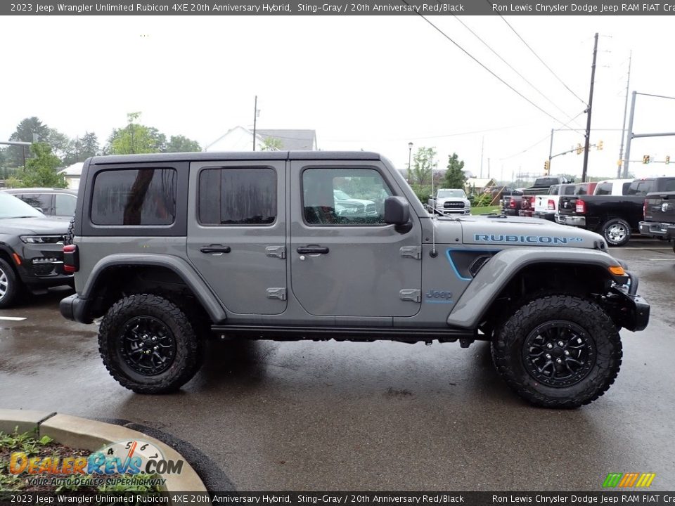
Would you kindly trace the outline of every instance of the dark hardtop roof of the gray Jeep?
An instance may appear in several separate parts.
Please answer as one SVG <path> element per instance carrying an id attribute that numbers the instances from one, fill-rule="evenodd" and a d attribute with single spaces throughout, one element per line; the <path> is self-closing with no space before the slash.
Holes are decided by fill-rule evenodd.
<path id="1" fill-rule="evenodd" d="M 199 162 L 203 160 L 381 160 L 369 151 L 224 151 L 108 155 L 89 159 L 91 165 L 130 162 Z"/>

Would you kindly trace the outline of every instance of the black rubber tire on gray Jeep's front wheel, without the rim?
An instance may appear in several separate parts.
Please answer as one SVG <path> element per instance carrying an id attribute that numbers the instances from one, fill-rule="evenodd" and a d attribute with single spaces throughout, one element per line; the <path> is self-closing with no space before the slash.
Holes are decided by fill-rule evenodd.
<path id="1" fill-rule="evenodd" d="M 532 363 L 526 363 L 526 341 L 540 325 L 549 323 L 580 327 L 591 343 L 593 365 L 569 386 L 542 384 L 528 370 Z M 521 306 L 497 330 L 491 351 L 497 371 L 519 396 L 535 406 L 558 409 L 578 408 L 603 395 L 617 377 L 622 358 L 621 339 L 611 318 L 593 301 L 572 295 L 548 295 Z"/>

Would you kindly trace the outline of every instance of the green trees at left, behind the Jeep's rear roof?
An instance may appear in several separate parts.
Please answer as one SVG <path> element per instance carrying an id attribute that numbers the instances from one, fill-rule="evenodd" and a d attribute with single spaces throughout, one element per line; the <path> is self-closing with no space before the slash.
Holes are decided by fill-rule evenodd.
<path id="1" fill-rule="evenodd" d="M 141 124 L 140 117 L 141 112 L 127 114 L 127 124 L 113 129 L 103 145 L 94 132 L 70 138 L 38 117 L 27 117 L 8 141 L 31 145 L 0 145 L 0 179 L 8 180 L 7 186 L 64 188 L 65 180 L 58 169 L 92 156 L 201 151 L 197 141 L 182 135 L 167 138 L 154 126 Z"/>

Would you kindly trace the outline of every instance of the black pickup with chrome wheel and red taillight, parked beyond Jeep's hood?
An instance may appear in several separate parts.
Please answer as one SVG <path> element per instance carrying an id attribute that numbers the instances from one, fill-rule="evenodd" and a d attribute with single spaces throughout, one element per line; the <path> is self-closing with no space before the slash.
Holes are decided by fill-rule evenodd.
<path id="1" fill-rule="evenodd" d="M 558 222 L 603 235 L 610 246 L 623 246 L 632 232 L 640 232 L 645 196 L 675 183 L 675 177 L 636 179 L 624 195 L 571 195 L 560 197 Z"/>

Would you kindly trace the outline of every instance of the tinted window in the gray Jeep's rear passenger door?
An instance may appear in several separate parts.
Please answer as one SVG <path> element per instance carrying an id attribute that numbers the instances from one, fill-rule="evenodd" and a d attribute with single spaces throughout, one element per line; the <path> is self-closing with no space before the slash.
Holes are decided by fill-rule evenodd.
<path id="1" fill-rule="evenodd" d="M 276 172 L 204 169 L 197 212 L 203 225 L 271 225 L 276 220 Z"/>

